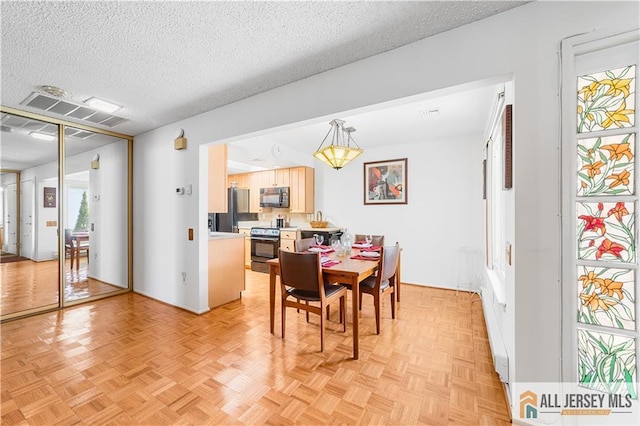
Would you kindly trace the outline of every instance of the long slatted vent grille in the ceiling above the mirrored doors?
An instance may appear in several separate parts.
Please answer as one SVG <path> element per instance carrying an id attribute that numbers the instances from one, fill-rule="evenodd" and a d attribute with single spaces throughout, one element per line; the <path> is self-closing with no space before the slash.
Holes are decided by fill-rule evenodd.
<path id="1" fill-rule="evenodd" d="M 127 121 L 126 118 L 107 114 L 87 106 L 74 104 L 72 102 L 56 98 L 55 96 L 39 92 L 31 93 L 27 99 L 20 102 L 20 104 L 65 117 L 75 118 L 77 120 L 88 121 L 92 124 L 102 124 L 108 127 L 114 127 Z"/>

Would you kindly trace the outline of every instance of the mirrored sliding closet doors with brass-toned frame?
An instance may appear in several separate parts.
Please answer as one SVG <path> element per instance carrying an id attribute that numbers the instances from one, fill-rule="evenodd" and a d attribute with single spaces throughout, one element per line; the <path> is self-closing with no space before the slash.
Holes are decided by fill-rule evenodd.
<path id="1" fill-rule="evenodd" d="M 1 319 L 129 291 L 132 138 L 0 118 Z"/>

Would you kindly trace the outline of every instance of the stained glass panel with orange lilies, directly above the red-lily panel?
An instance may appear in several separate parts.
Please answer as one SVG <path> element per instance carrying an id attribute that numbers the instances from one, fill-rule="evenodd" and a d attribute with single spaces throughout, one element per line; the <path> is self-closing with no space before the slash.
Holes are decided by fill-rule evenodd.
<path id="1" fill-rule="evenodd" d="M 635 134 L 578 141 L 578 196 L 632 195 Z"/>

